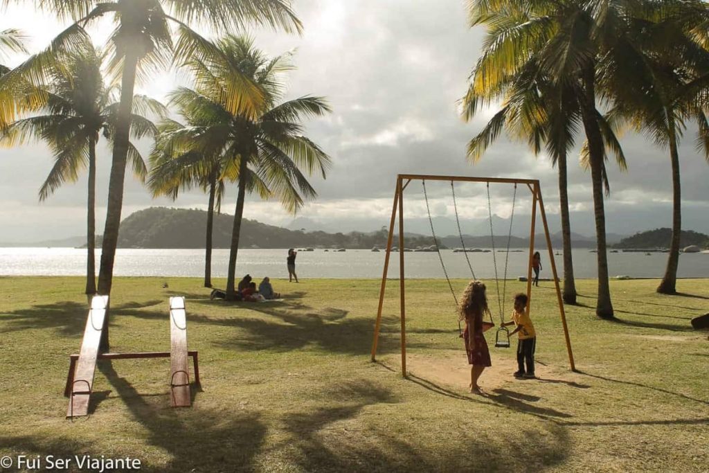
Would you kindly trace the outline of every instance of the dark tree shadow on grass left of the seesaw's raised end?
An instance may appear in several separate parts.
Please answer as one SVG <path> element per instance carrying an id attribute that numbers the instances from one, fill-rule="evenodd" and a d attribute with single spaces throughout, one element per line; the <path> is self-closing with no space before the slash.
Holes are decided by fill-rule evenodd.
<path id="1" fill-rule="evenodd" d="M 89 307 L 74 301 L 57 302 L 55 304 L 38 304 L 32 308 L 0 314 L 0 322 L 6 328 L 0 333 L 10 333 L 19 330 L 55 329 L 61 335 L 77 335 L 84 331 Z"/>

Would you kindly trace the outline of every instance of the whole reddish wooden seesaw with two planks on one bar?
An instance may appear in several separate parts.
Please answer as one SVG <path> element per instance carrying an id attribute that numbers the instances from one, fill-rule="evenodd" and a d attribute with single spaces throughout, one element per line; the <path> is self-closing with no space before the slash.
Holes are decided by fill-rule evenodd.
<path id="1" fill-rule="evenodd" d="M 187 350 L 187 318 L 184 297 L 170 297 L 170 351 L 169 352 L 138 352 L 138 353 L 99 353 L 101 333 L 108 311 L 108 296 L 94 296 L 91 299 L 89 316 L 86 318 L 86 328 L 82 347 L 78 355 L 69 355 L 69 374 L 64 395 L 69 398 L 67 418 L 87 416 L 89 414 L 89 399 L 94 387 L 96 361 L 125 360 L 136 358 L 167 358 L 170 359 L 170 405 L 172 407 L 191 406 L 188 357 L 192 357 L 194 366 L 194 382 L 199 382 L 199 361 L 196 350 Z"/>

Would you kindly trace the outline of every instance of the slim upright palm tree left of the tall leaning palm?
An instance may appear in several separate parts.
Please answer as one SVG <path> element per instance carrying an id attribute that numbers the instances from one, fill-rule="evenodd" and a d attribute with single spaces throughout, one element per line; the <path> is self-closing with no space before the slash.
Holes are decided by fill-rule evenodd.
<path id="1" fill-rule="evenodd" d="M 101 57 L 91 43 L 82 50 L 63 55 L 61 67 L 50 72 L 50 82 L 43 87 L 26 86 L 20 101 L 27 101 L 27 118 L 10 123 L 0 135 L 0 143 L 23 144 L 43 140 L 52 150 L 55 165 L 40 187 L 40 201 L 48 198 L 65 182 L 75 182 L 79 171 L 88 167 L 88 202 L 86 225 L 86 294 L 96 293 L 94 252 L 96 206 L 96 144 L 103 134 L 109 141 L 115 135 L 117 104 L 113 93 L 104 84 L 101 75 Z M 30 108 L 27 96 L 38 93 L 45 97 L 38 106 Z M 164 113 L 162 105 L 143 96 L 135 97 L 136 111 Z M 137 113 L 130 116 L 133 138 L 155 135 L 157 128 L 147 118 Z M 144 179 L 147 172 L 143 157 L 129 143 L 128 160 L 135 174 Z"/>

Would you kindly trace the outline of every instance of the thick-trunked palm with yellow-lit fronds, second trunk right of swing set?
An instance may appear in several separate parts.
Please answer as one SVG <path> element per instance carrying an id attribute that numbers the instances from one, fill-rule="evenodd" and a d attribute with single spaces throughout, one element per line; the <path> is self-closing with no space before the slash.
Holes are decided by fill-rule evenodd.
<path id="1" fill-rule="evenodd" d="M 607 0 L 470 0 L 473 25 L 486 25 L 484 52 L 476 65 L 471 87 L 504 93 L 506 77 L 516 74 L 527 62 L 539 62 L 554 87 L 573 91 L 579 107 L 580 124 L 586 135 L 588 167 L 591 169 L 593 208 L 598 247 L 598 299 L 596 314 L 613 317 L 608 284 L 603 189 L 606 149 L 615 154 L 621 169 L 624 157 L 612 128 L 596 108 L 596 72 L 617 40 L 628 11 L 627 2 Z M 500 12 L 503 13 L 501 17 Z M 506 14 L 510 12 L 510 14 Z M 619 67 L 622 65 L 618 65 Z"/>

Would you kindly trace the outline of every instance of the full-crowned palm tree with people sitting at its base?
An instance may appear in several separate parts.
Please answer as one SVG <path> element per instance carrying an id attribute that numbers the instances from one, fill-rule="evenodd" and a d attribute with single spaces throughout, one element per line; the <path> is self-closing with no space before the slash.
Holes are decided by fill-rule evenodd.
<path id="1" fill-rule="evenodd" d="M 322 98 L 314 96 L 279 103 L 284 94 L 279 75 L 293 68 L 288 55 L 269 60 L 254 48 L 252 40 L 233 35 L 203 47 L 213 51 L 219 60 L 209 64 L 187 61 L 185 65 L 193 72 L 198 87 L 174 91 L 171 101 L 186 116 L 208 117 L 212 124 L 194 127 L 189 146 L 204 156 L 221 150 L 219 155 L 226 160 L 223 169 L 233 169 L 238 179 L 226 286 L 227 298 L 233 299 L 247 191 L 255 191 L 262 198 L 276 197 L 294 213 L 305 199 L 313 199 L 316 191 L 300 168 L 325 177 L 330 157 L 301 135 L 303 129 L 298 122 L 308 116 L 321 116 L 330 108 Z M 227 78 L 232 74 L 248 77 L 257 84 L 264 100 L 255 114 L 233 113 L 227 107 L 224 84 L 230 82 Z"/>

